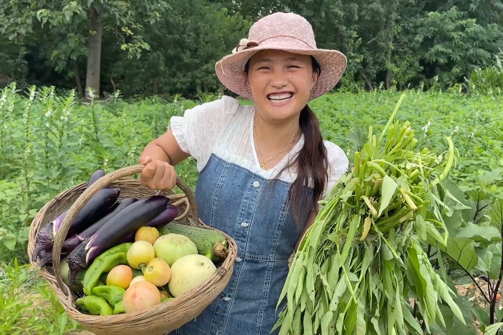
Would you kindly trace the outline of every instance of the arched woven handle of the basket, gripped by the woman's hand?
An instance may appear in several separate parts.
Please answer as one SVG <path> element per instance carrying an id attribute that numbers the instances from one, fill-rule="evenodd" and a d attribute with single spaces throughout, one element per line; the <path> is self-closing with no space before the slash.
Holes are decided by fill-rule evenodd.
<path id="1" fill-rule="evenodd" d="M 71 295 L 71 293 L 61 278 L 61 273 L 59 271 L 59 268 L 60 268 L 59 258 L 61 255 L 61 248 L 63 247 L 64 239 L 65 239 L 66 234 L 68 233 L 68 230 L 70 228 L 70 222 L 73 221 L 73 219 L 75 218 L 77 213 L 80 211 L 80 209 L 82 209 L 82 207 L 105 185 L 108 185 L 118 179 L 130 176 L 130 175 L 133 175 L 136 173 L 140 173 L 141 171 L 143 171 L 144 167 L 145 167 L 144 164 L 132 165 L 132 166 L 124 167 L 122 169 L 115 170 L 115 171 L 101 177 L 95 183 L 93 183 L 90 187 L 88 187 L 85 191 L 83 191 L 82 194 L 80 194 L 80 196 L 70 206 L 68 213 L 66 214 L 66 217 L 63 219 L 63 222 L 61 222 L 61 228 L 56 232 L 56 235 L 54 236 L 54 245 L 52 248 L 52 264 L 53 264 L 54 277 L 56 278 L 58 286 L 66 294 L 66 296 Z M 189 211 L 189 213 L 187 213 L 187 214 L 192 216 L 193 219 L 197 220 L 199 216 L 197 213 L 196 199 L 194 197 L 194 193 L 183 182 L 183 180 L 180 179 L 178 176 L 177 176 L 177 183 L 176 184 L 185 193 L 185 196 L 186 196 L 186 199 L 188 202 L 187 209 Z M 157 192 L 157 194 L 159 194 L 159 193 L 161 193 L 161 191 Z M 184 214 L 186 214 L 186 213 L 184 213 Z M 182 214 L 182 215 L 185 216 L 184 214 Z M 189 220 L 189 222 L 191 222 L 191 220 Z M 191 224 L 192 224 L 192 222 L 191 222 Z"/>

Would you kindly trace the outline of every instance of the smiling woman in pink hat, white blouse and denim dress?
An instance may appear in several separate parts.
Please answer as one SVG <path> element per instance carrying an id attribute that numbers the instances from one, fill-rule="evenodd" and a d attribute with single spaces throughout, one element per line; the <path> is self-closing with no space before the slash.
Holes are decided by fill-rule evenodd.
<path id="1" fill-rule="evenodd" d="M 173 117 L 171 129 L 146 146 L 142 184 L 173 188 L 173 166 L 194 157 L 199 215 L 238 247 L 225 290 L 173 334 L 270 333 L 288 258 L 316 216 L 316 201 L 348 169 L 344 151 L 323 141 L 307 106 L 345 67 L 339 51 L 316 49 L 304 18 L 269 15 L 216 64 L 219 80 L 254 105 L 229 96 L 203 103 Z"/>

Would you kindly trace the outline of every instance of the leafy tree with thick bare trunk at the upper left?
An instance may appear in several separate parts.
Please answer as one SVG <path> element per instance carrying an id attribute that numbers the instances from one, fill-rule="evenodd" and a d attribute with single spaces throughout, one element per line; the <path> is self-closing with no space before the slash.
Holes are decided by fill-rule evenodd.
<path id="1" fill-rule="evenodd" d="M 29 44 L 56 72 L 74 77 L 82 93 L 77 62 L 87 59 L 86 87 L 100 93 L 103 39 L 107 32 L 127 51 L 140 56 L 149 49 L 133 30 L 155 24 L 169 9 L 164 1 L 0 1 L 0 33 L 15 45 Z M 112 44 L 113 45 L 113 44 Z"/>

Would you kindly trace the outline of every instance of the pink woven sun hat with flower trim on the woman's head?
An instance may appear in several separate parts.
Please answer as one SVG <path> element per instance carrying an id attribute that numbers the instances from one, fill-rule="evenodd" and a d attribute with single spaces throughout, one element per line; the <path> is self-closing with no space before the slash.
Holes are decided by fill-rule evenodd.
<path id="1" fill-rule="evenodd" d="M 239 45 L 232 50 L 232 54 L 216 63 L 218 79 L 232 92 L 245 98 L 252 98 L 244 75 L 244 66 L 251 56 L 264 49 L 306 54 L 316 59 L 321 74 L 309 100 L 336 86 L 346 69 L 347 59 L 342 52 L 316 48 L 312 27 L 306 19 L 293 13 L 274 13 L 251 26 L 248 38 L 241 39 Z"/>

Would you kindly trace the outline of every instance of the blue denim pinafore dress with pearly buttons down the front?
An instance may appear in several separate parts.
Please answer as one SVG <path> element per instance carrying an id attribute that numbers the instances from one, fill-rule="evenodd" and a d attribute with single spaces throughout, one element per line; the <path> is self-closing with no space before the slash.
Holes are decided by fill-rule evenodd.
<path id="1" fill-rule="evenodd" d="M 171 335 L 270 334 L 278 320 L 275 309 L 288 274 L 288 258 L 303 229 L 293 218 L 289 187 L 222 155 L 210 156 L 197 183 L 198 213 L 206 225 L 235 240 L 237 257 L 225 290 L 195 320 Z M 308 199 L 306 204 L 312 207 Z M 272 334 L 278 333 L 276 329 Z"/>

